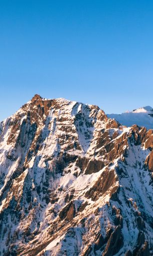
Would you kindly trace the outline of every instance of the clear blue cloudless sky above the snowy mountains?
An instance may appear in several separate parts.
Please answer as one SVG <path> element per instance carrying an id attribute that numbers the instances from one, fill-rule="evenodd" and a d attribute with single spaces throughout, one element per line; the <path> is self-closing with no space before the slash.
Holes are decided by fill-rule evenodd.
<path id="1" fill-rule="evenodd" d="M 0 0 L 0 120 L 38 93 L 153 107 L 153 1 Z"/>

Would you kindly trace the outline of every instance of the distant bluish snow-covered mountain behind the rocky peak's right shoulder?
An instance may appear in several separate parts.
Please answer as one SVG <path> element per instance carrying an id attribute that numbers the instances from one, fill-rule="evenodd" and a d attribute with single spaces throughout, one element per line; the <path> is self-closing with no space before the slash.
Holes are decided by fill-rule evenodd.
<path id="1" fill-rule="evenodd" d="M 122 114 L 107 114 L 109 118 L 114 118 L 118 122 L 126 126 L 137 124 L 145 126 L 146 129 L 153 129 L 153 109 L 150 106 L 134 109 L 133 111 L 126 111 Z"/>

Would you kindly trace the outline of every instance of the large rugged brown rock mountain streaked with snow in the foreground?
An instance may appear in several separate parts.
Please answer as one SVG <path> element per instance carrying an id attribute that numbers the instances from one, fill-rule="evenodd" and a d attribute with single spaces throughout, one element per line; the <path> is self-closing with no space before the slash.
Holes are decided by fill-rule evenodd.
<path id="1" fill-rule="evenodd" d="M 0 124 L 1 255 L 153 255 L 153 131 L 35 95 Z"/>

